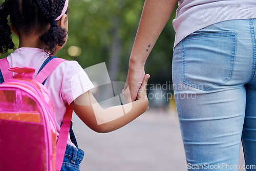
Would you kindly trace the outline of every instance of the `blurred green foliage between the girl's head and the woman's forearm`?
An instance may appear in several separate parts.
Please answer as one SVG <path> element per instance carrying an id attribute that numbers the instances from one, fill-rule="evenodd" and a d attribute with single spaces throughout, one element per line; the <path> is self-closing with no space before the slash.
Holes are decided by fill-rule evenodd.
<path id="1" fill-rule="evenodd" d="M 79 46 L 82 53 L 79 57 L 66 57 L 77 60 L 82 67 L 99 62 L 109 65 L 113 31 L 116 29 L 121 39 L 121 64 L 124 64 L 124 67 L 119 68 L 125 68 L 127 72 L 143 3 L 127 0 L 72 0 L 69 6 L 69 40 L 66 48 Z M 65 54 L 60 56 L 62 55 Z"/>

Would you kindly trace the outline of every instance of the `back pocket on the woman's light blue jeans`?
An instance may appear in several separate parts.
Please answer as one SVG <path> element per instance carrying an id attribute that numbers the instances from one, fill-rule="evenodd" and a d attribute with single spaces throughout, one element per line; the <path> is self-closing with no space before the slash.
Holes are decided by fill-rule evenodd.
<path id="1" fill-rule="evenodd" d="M 182 82 L 210 91 L 232 77 L 236 32 L 191 34 L 181 41 Z"/>

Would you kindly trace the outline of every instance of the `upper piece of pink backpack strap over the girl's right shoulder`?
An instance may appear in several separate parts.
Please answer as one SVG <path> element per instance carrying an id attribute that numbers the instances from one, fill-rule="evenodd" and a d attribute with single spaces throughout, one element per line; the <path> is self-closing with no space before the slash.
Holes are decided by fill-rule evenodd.
<path id="1" fill-rule="evenodd" d="M 63 61 L 66 61 L 62 58 L 53 58 L 50 60 L 44 68 L 41 69 L 41 71 L 36 75 L 34 80 L 42 83 L 44 82 L 48 76 L 55 70 L 55 68 Z"/>

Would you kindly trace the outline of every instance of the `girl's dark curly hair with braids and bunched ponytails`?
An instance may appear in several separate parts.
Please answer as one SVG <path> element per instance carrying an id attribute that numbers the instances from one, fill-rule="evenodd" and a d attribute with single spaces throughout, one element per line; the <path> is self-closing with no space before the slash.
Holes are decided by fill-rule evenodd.
<path id="1" fill-rule="evenodd" d="M 14 49 L 11 39 L 11 28 L 8 25 L 8 15 L 18 34 L 22 30 L 30 34 L 32 29 L 45 32 L 49 24 L 57 18 L 65 5 L 66 0 L 6 0 L 0 7 L 0 53 L 4 54 L 9 49 Z M 21 29 L 21 30 L 20 30 Z M 66 42 L 67 30 L 57 27 L 50 29 L 39 36 L 45 43 L 45 51 L 52 55 L 56 46 Z"/>

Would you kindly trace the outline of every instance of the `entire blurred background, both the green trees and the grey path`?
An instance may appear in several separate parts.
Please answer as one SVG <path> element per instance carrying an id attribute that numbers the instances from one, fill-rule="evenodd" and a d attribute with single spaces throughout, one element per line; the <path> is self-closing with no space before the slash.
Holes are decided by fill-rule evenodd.
<path id="1" fill-rule="evenodd" d="M 125 82 L 143 4 L 143 0 L 70 0 L 68 42 L 56 57 L 77 60 L 84 69 L 105 62 L 111 81 Z M 145 114 L 107 134 L 91 131 L 73 116 L 79 147 L 85 151 L 82 171 L 186 170 L 172 94 L 174 18 L 175 12 L 145 65 L 151 75 L 147 87 L 150 109 Z M 14 34 L 13 41 L 17 47 Z M 242 157 L 241 153 L 241 162 Z"/>

